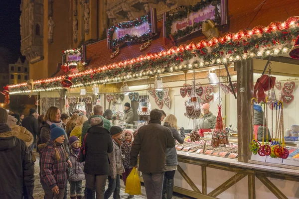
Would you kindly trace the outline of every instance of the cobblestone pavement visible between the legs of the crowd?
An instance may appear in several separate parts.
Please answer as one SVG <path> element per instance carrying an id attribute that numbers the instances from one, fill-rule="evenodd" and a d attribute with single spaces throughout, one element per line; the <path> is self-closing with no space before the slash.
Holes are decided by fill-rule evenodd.
<path id="1" fill-rule="evenodd" d="M 44 199 L 44 191 L 42 189 L 42 186 L 40 184 L 40 179 L 39 179 L 39 157 L 38 154 L 36 154 L 36 162 L 34 165 L 34 193 L 33 193 L 33 197 L 34 199 Z M 85 188 L 85 181 L 83 181 L 82 183 L 82 187 Z M 128 198 L 128 194 L 125 193 L 125 186 L 123 184 L 123 181 L 121 180 L 121 199 L 127 199 Z M 70 188 L 70 185 L 68 184 L 68 189 Z M 83 188 L 83 190 L 84 190 Z M 106 189 L 108 188 L 108 182 L 106 183 Z M 146 190 L 145 188 L 142 186 L 142 194 L 141 196 L 135 196 L 134 199 L 146 199 Z M 177 194 L 176 194 L 177 195 Z M 110 197 L 111 199 L 113 199 L 113 197 Z M 69 199 L 69 196 L 68 196 Z M 182 197 L 182 196 L 173 196 L 172 199 L 189 199 L 186 197 Z"/>

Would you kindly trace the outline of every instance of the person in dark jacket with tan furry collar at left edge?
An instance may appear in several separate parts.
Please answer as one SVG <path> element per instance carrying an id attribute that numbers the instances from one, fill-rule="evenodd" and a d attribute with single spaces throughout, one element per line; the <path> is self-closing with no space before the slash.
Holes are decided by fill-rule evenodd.
<path id="1" fill-rule="evenodd" d="M 7 111 L 0 107 L 0 199 L 33 199 L 34 162 L 7 119 Z"/>

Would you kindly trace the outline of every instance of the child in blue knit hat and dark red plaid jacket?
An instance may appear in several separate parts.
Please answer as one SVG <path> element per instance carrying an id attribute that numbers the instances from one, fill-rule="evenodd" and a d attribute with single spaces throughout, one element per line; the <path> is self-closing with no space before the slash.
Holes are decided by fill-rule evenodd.
<path id="1" fill-rule="evenodd" d="M 45 192 L 45 199 L 63 199 L 66 187 L 66 170 L 69 164 L 66 162 L 68 155 L 65 151 L 63 141 L 65 131 L 51 125 L 51 139 L 38 145 L 41 153 L 41 176 L 40 183 Z"/>

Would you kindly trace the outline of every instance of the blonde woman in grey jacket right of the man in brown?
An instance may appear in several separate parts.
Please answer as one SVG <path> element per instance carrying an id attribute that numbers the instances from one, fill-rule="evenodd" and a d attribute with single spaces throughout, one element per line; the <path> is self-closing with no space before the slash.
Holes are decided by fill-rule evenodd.
<path id="1" fill-rule="evenodd" d="M 164 119 L 164 126 L 168 127 L 172 136 L 175 140 L 177 140 L 180 144 L 184 143 L 185 140 L 185 131 L 184 128 L 178 129 L 177 127 L 177 119 L 173 114 L 169 114 Z M 178 132 L 178 130 L 180 132 Z M 177 169 L 177 154 L 175 147 L 166 150 L 166 172 L 164 174 L 163 180 L 163 191 L 162 191 L 162 199 L 171 199 L 173 193 L 173 178 L 175 174 L 175 170 Z M 165 197 L 167 195 L 167 198 Z"/>

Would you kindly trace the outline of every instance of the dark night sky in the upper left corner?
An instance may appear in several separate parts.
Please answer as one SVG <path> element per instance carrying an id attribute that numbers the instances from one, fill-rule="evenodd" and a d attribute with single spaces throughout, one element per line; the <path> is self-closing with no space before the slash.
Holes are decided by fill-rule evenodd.
<path id="1" fill-rule="evenodd" d="M 21 55 L 20 3 L 21 0 L 0 0 L 0 58 L 7 59 L 10 63 L 16 61 Z M 0 67 L 4 66 L 1 65 Z"/>

